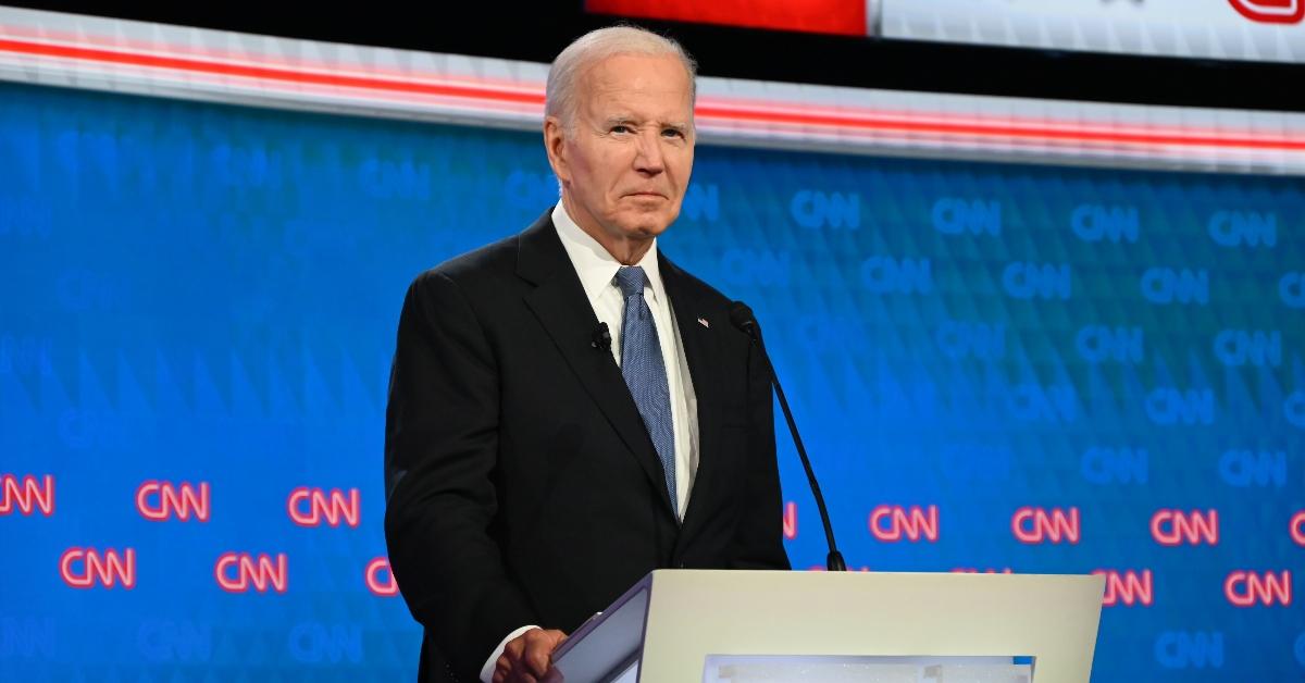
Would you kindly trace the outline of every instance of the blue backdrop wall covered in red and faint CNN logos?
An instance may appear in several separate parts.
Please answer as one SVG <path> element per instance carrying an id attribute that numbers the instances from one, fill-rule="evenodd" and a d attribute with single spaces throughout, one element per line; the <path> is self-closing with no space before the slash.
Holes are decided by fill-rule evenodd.
<path id="1" fill-rule="evenodd" d="M 0 85 L 0 679 L 411 679 L 399 304 L 555 200 L 535 133 Z M 1293 178 L 699 146 L 662 248 L 757 311 L 850 564 L 1101 571 L 1094 680 L 1298 680 L 1302 227 Z"/>

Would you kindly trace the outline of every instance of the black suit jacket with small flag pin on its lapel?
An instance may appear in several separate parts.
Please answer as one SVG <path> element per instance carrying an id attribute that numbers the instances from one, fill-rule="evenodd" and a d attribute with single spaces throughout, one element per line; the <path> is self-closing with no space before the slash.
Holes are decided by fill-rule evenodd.
<path id="1" fill-rule="evenodd" d="M 683 526 L 548 214 L 408 289 L 385 537 L 422 679 L 476 680 L 514 628 L 570 632 L 656 568 L 788 568 L 763 360 L 728 299 L 660 252 L 659 269 L 698 397 Z"/>

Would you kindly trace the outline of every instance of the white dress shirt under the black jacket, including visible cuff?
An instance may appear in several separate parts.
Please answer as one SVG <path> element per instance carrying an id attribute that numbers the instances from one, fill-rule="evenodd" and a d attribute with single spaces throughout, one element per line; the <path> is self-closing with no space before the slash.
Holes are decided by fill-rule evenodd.
<path id="1" fill-rule="evenodd" d="M 562 240 L 562 248 L 570 257 L 585 296 L 594 308 L 599 323 L 607 323 L 612 334 L 612 358 L 621 364 L 621 323 L 625 316 L 625 296 L 616 283 L 616 272 L 625 264 L 613 257 L 596 239 L 581 230 L 566 214 L 562 202 L 553 208 L 553 226 Z M 647 283 L 643 287 L 643 300 L 652 311 L 658 342 L 662 346 L 662 360 L 666 366 L 667 389 L 671 392 L 671 423 L 675 430 L 675 491 L 676 513 L 683 520 L 693 491 L 693 481 L 698 471 L 698 398 L 693 392 L 693 379 L 689 376 L 689 362 L 680 343 L 680 326 L 675 321 L 671 299 L 662 283 L 662 272 L 656 260 L 656 240 L 647 253 L 636 264 L 643 268 Z M 536 626 L 523 626 L 499 643 L 499 646 L 480 669 L 480 680 L 489 683 L 493 678 L 495 662 L 502 656 L 508 641 L 521 636 Z"/>

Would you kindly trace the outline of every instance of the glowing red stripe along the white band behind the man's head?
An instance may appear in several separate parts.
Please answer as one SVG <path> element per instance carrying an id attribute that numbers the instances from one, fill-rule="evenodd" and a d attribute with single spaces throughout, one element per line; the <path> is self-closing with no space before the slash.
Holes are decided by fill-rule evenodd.
<path id="1" fill-rule="evenodd" d="M 474 99 L 484 103 L 487 110 L 499 110 L 504 104 L 542 107 L 544 94 L 539 87 L 499 87 L 482 84 L 467 82 L 433 82 L 414 81 L 402 78 L 381 78 L 375 76 L 322 73 L 316 71 L 296 69 L 284 65 L 258 65 L 234 64 L 213 61 L 207 59 L 194 59 L 191 56 L 171 56 L 146 52 L 127 52 L 119 50 L 106 50 L 99 47 L 82 47 L 70 44 L 52 44 L 33 40 L 16 40 L 0 38 L 0 52 L 16 55 L 29 55 L 39 57 L 70 59 L 94 64 L 130 65 L 155 69 L 170 69 L 193 74 L 232 76 L 240 78 L 253 78 L 283 84 L 348 87 L 367 90 L 381 95 L 384 99 L 393 99 L 395 94 L 410 95 L 437 95 L 462 99 Z M 927 133 L 932 136 L 958 136 L 967 138 L 1004 140 L 1021 146 L 1036 141 L 1047 141 L 1048 145 L 1062 146 L 1064 144 L 1081 144 L 1083 146 L 1096 146 L 1100 144 L 1112 145 L 1147 145 L 1147 146 L 1177 146 L 1177 148 L 1224 148 L 1245 150 L 1278 150 L 1278 151 L 1305 151 L 1305 136 L 1268 137 L 1268 136 L 1224 136 L 1208 131 L 1190 132 L 1182 129 L 1147 129 L 1139 127 L 1112 127 L 1128 128 L 1125 131 L 1073 124 L 1039 124 L 1018 121 L 1015 119 L 979 119 L 946 116 L 945 114 L 914 115 L 890 112 L 856 112 L 837 114 L 821 111 L 821 107 L 793 107 L 793 106 L 750 106 L 724 103 L 699 103 L 696 108 L 698 118 L 719 120 L 722 124 L 736 123 L 750 128 L 749 124 L 770 124 L 776 127 L 810 127 L 820 129 L 842 129 L 848 135 L 863 137 L 867 132 L 891 133 Z M 706 121 L 705 121 L 706 123 Z"/>

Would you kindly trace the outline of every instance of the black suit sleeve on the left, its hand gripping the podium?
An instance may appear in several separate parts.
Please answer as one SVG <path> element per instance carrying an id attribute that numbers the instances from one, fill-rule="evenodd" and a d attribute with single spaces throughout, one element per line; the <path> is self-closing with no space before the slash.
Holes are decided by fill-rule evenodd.
<path id="1" fill-rule="evenodd" d="M 499 370 L 459 286 L 408 289 L 386 407 L 385 539 L 408 610 L 458 678 L 476 680 L 512 629 L 538 623 L 493 538 Z"/>

